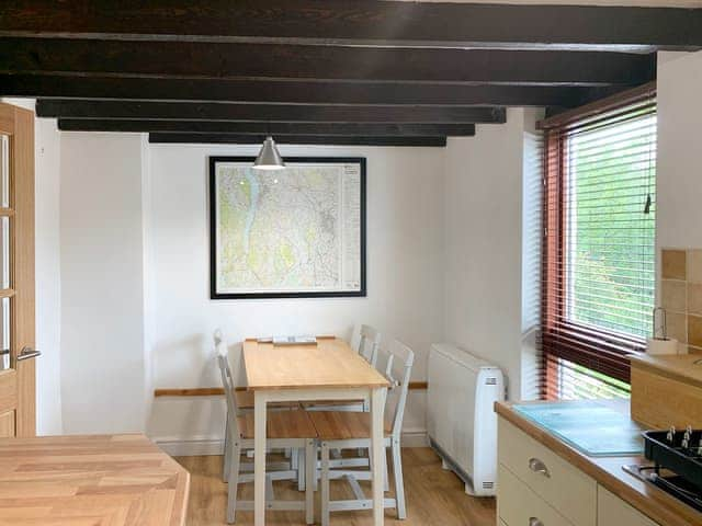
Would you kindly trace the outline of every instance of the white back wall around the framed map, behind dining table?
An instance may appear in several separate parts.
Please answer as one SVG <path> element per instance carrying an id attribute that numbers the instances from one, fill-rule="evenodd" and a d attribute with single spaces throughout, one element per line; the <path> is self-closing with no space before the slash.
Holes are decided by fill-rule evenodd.
<path id="1" fill-rule="evenodd" d="M 409 344 L 426 378 L 441 340 L 442 172 L 440 148 L 282 147 L 285 156 L 367 158 L 367 298 L 217 300 L 208 296 L 207 157 L 256 155 L 257 147 L 152 146 L 150 259 L 154 274 L 154 384 L 217 386 L 212 333 L 228 342 L 278 333 L 349 338 L 354 323 L 377 325 Z M 233 358 L 238 357 L 233 348 Z M 423 392 L 414 392 L 406 431 L 423 432 Z M 222 437 L 223 402 L 159 399 L 149 434 L 161 441 Z"/>

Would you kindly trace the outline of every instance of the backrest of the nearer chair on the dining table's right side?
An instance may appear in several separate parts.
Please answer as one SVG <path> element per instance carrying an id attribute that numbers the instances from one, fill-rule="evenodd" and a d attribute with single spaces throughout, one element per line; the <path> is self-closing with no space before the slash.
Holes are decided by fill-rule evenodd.
<path id="1" fill-rule="evenodd" d="M 393 341 L 389 350 L 378 350 L 376 368 L 390 382 L 385 402 L 385 414 L 392 419 L 392 434 L 397 439 L 403 431 L 403 419 L 414 364 L 415 353 L 412 350 L 397 340 Z"/>

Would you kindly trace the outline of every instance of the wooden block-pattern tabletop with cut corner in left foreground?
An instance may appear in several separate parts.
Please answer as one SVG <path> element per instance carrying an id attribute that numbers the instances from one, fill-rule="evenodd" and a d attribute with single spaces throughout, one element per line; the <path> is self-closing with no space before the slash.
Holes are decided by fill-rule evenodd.
<path id="1" fill-rule="evenodd" d="M 189 485 L 144 435 L 0 439 L 2 526 L 181 526 Z"/>

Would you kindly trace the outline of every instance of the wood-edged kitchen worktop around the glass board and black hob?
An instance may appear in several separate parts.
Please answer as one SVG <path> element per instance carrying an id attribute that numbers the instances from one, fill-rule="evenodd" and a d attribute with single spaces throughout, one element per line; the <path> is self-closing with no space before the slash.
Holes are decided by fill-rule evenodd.
<path id="1" fill-rule="evenodd" d="M 624 404 L 621 410 L 626 411 L 627 404 Z M 509 403 L 497 402 L 495 411 L 661 526 L 702 526 L 702 513 L 622 469 L 624 465 L 649 464 L 645 458 L 641 456 L 588 457 L 520 414 Z"/>

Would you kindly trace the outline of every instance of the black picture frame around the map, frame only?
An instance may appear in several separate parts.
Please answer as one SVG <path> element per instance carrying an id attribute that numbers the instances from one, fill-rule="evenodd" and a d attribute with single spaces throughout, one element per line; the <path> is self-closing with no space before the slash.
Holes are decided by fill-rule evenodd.
<path id="1" fill-rule="evenodd" d="M 294 291 L 294 293 L 219 293 L 217 291 L 217 207 L 216 167 L 220 162 L 246 162 L 253 164 L 253 157 L 212 156 L 210 159 L 210 298 L 211 299 L 275 299 L 275 298 L 350 298 L 366 297 L 366 159 L 365 157 L 285 157 L 285 164 L 333 163 L 360 165 L 360 258 L 361 286 L 359 290 Z"/>

